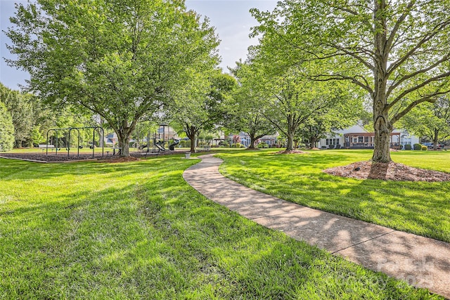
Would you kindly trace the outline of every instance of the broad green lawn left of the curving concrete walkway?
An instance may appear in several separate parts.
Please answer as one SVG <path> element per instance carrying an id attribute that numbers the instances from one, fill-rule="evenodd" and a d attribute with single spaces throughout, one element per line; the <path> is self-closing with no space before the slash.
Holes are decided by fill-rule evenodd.
<path id="1" fill-rule="evenodd" d="M 441 299 L 205 199 L 195 162 L 0 159 L 0 299 Z"/>

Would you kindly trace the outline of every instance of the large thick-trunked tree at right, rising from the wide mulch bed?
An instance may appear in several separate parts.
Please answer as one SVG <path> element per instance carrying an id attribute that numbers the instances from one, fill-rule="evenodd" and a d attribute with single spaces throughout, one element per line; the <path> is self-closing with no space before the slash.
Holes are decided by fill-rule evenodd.
<path id="1" fill-rule="evenodd" d="M 390 162 L 393 125 L 413 107 L 448 93 L 449 0 L 284 0 L 253 10 L 264 34 L 291 64 L 326 61 L 315 80 L 347 80 L 370 94 L 373 162 Z"/>

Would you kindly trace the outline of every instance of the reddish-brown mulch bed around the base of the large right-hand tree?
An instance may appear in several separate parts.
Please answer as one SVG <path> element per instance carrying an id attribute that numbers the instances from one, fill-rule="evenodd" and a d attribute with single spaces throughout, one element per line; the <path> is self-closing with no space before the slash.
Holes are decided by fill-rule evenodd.
<path id="1" fill-rule="evenodd" d="M 390 181 L 450 181 L 450 174 L 408 167 L 397 162 L 355 162 L 343 167 L 324 170 L 325 173 L 358 179 L 382 179 Z"/>

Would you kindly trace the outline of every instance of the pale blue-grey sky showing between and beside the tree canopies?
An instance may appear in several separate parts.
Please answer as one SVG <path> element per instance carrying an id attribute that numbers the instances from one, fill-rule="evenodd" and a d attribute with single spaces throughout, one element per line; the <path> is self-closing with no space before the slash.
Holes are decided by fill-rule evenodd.
<path id="1" fill-rule="evenodd" d="M 0 82 L 10 89 L 20 89 L 29 79 L 27 72 L 8 67 L 4 58 L 13 58 L 6 48 L 11 41 L 3 31 L 11 26 L 9 18 L 15 13 L 15 2 L 18 0 L 0 0 Z M 20 1 L 26 3 L 26 1 Z M 196 11 L 210 19 L 210 25 L 215 27 L 221 44 L 219 54 L 222 62 L 220 67 L 226 72 L 227 67 L 234 67 L 237 60 L 245 60 L 247 48 L 257 44 L 257 39 L 250 39 L 251 27 L 257 21 L 250 15 L 250 8 L 261 11 L 272 11 L 276 0 L 186 0 L 188 9 Z"/>

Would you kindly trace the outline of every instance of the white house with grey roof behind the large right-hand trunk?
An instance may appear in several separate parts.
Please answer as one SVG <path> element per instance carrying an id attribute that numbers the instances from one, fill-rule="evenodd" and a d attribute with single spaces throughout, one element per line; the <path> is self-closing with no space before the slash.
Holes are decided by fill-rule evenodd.
<path id="1" fill-rule="evenodd" d="M 401 149 L 404 145 L 413 145 L 418 142 L 417 136 L 412 136 L 404 129 L 395 129 L 391 133 L 391 148 Z M 375 133 L 356 124 L 347 129 L 328 133 L 319 143 L 320 148 L 373 149 Z"/>

